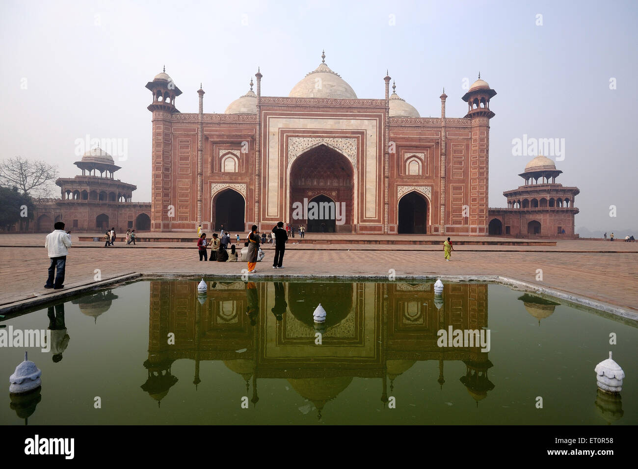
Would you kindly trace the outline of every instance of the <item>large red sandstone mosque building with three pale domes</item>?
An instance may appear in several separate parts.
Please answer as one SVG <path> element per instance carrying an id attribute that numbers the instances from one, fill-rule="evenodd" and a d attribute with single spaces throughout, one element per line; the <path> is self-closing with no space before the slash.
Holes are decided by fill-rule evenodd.
<path id="1" fill-rule="evenodd" d="M 325 57 L 325 56 L 322 56 Z M 262 74 L 225 114 L 181 113 L 166 73 L 152 91 L 151 229 L 232 232 L 278 221 L 309 231 L 487 235 L 489 100 L 477 80 L 468 114 L 420 117 L 390 95 L 359 99 L 325 62 L 288 97 L 261 94 Z M 394 89 L 394 87 L 393 87 Z M 345 205 L 343 223 L 295 217 L 308 202 Z M 314 200 L 313 200 L 314 199 Z"/>

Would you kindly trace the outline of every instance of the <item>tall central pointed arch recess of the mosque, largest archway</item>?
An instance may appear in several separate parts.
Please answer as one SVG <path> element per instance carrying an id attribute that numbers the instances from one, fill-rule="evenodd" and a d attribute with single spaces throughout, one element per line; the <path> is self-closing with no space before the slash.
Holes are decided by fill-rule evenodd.
<path id="1" fill-rule="evenodd" d="M 352 233 L 353 188 L 352 163 L 343 154 L 323 144 L 309 149 L 290 169 L 290 223 L 309 233 Z"/>

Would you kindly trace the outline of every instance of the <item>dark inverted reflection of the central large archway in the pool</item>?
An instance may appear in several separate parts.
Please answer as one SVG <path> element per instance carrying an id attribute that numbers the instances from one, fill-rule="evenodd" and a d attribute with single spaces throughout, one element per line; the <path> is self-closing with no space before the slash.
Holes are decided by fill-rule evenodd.
<path id="1" fill-rule="evenodd" d="M 303 300 L 303 301 L 300 301 Z M 326 311 L 325 328 L 343 321 L 352 310 L 353 295 L 350 283 L 297 283 L 288 284 L 288 308 L 302 323 L 315 327 L 313 311 L 318 304 Z"/>

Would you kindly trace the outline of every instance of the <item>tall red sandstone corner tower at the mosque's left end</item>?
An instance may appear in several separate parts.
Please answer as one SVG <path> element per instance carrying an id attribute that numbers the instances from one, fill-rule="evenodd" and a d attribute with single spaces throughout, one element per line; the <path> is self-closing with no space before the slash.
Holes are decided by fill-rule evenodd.
<path id="1" fill-rule="evenodd" d="M 155 75 L 146 88 L 153 94 L 153 102 L 147 107 L 152 117 L 152 180 L 151 180 L 151 231 L 170 230 L 174 210 L 172 202 L 171 180 L 165 174 L 172 172 L 172 120 L 171 116 L 179 112 L 175 108 L 175 98 L 182 94 L 175 82 L 166 73 L 166 68 Z"/>

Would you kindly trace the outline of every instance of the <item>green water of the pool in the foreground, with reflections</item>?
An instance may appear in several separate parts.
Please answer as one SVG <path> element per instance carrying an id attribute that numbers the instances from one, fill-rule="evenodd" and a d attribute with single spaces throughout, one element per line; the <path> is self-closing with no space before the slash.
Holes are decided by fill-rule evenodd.
<path id="1" fill-rule="evenodd" d="M 52 350 L 27 349 L 41 390 L 15 398 L 25 349 L 0 348 L 0 423 L 638 423 L 627 320 L 496 284 L 449 283 L 438 299 L 431 283 L 208 281 L 198 296 L 198 280 L 138 281 L 4 318 L 51 328 Z M 489 352 L 439 346 L 450 326 L 489 331 Z M 619 398 L 596 386 L 610 350 L 626 375 Z"/>

